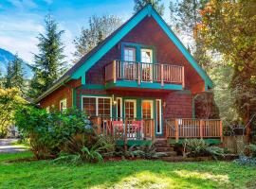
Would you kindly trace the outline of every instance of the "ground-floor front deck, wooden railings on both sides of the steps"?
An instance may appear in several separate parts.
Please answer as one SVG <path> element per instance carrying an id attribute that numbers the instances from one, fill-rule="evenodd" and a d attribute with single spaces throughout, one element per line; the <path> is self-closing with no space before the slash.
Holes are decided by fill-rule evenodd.
<path id="1" fill-rule="evenodd" d="M 114 119 L 91 117 L 98 134 L 112 136 L 121 146 L 152 144 L 155 136 L 155 119 Z M 222 142 L 222 121 L 217 119 L 165 119 L 164 135 L 171 144 L 180 144 L 184 139 L 204 139 L 210 143 Z"/>

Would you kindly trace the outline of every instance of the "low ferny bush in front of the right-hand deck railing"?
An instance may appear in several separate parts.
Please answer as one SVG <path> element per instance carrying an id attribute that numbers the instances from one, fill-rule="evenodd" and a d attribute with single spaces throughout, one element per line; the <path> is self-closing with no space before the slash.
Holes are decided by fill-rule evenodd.
<path id="1" fill-rule="evenodd" d="M 203 139 L 186 139 L 183 142 L 184 153 L 190 157 L 211 156 L 224 158 L 225 150 L 218 146 L 209 146 Z"/>

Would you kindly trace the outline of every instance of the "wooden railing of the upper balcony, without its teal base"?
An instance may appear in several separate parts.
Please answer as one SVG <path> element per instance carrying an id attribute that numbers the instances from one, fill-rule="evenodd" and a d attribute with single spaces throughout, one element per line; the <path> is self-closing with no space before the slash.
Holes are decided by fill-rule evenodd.
<path id="1" fill-rule="evenodd" d="M 116 83 L 120 79 L 136 80 L 138 84 L 159 82 L 161 86 L 174 83 L 184 87 L 184 66 L 113 60 L 105 66 L 105 81 Z"/>

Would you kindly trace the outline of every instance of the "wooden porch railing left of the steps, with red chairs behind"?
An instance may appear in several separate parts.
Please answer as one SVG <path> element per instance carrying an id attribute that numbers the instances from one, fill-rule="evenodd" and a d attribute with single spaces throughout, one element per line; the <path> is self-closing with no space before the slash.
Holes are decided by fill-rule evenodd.
<path id="1" fill-rule="evenodd" d="M 154 119 L 122 119 L 110 117 L 90 117 L 94 128 L 98 134 L 111 135 L 119 140 L 145 140 L 155 139 L 155 120 Z M 117 120 L 117 121 L 116 121 Z M 123 121 L 120 121 L 123 120 Z M 115 124 L 119 126 L 116 127 Z"/>

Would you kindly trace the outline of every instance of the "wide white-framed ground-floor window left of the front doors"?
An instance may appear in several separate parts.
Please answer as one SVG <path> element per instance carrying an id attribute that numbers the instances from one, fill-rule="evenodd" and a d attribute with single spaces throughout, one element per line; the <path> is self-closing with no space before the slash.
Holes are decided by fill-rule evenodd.
<path id="1" fill-rule="evenodd" d="M 111 98 L 82 97 L 82 109 L 88 116 L 111 117 Z"/>

